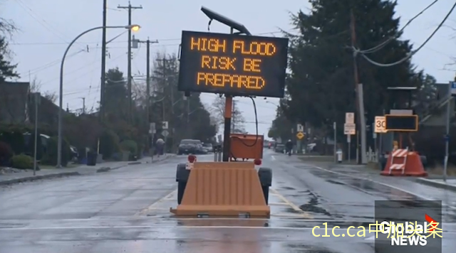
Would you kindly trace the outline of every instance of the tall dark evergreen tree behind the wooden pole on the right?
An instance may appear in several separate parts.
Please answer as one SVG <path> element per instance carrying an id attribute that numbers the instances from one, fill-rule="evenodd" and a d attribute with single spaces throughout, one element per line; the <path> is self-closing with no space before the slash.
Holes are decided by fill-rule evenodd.
<path id="1" fill-rule="evenodd" d="M 351 11 L 356 20 L 356 48 L 368 49 L 395 37 L 369 54 L 379 63 L 391 63 L 410 53 L 408 41 L 398 39 L 399 18 L 394 18 L 396 1 L 311 0 L 310 14 L 292 16 L 296 35 L 289 35 L 289 68 L 286 117 L 296 122 L 332 131 L 333 122 L 343 124 L 345 112 L 356 112 L 351 48 Z M 378 68 L 358 57 L 363 83 L 366 118 L 382 113 L 387 87 L 418 86 L 410 60 L 390 68 Z M 370 123 L 370 122 L 368 122 Z M 341 131 L 341 129 L 340 129 Z"/>

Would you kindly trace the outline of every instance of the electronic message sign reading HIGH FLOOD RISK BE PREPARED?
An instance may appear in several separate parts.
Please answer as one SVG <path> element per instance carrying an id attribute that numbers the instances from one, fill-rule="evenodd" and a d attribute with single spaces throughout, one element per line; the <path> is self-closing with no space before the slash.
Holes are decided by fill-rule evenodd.
<path id="1" fill-rule="evenodd" d="M 182 31 L 178 88 L 284 97 L 288 38 Z"/>

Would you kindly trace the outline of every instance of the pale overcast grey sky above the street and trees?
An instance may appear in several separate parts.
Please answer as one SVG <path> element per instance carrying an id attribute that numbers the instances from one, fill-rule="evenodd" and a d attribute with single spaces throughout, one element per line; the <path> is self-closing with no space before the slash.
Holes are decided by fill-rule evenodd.
<path id="1" fill-rule="evenodd" d="M 21 29 L 14 36 L 11 50 L 16 54 L 14 62 L 19 63 L 18 72 L 21 80 L 28 81 L 36 77 L 43 84 L 42 90 L 58 92 L 60 60 L 66 45 L 82 31 L 102 24 L 102 0 L 6 0 L 0 1 L 0 15 L 11 18 Z M 404 24 L 418 14 L 432 0 L 399 0 L 396 14 L 401 16 Z M 177 53 L 182 30 L 207 31 L 207 17 L 199 11 L 201 6 L 229 16 L 244 23 L 252 33 L 270 33 L 280 36 L 279 28 L 289 31 L 289 11 L 296 13 L 299 9 L 306 10 L 310 5 L 303 0 L 282 0 L 275 4 L 264 0 L 169 0 L 146 1 L 133 0 L 133 6 L 143 9 L 133 11 L 133 23 L 142 26 L 136 38 L 142 40 L 149 37 L 157 39 L 158 44 L 152 45 L 152 54 L 156 51 Z M 442 20 L 453 4 L 453 0 L 440 0 L 408 26 L 403 38 L 419 45 Z M 126 0 L 108 0 L 108 25 L 126 25 L 128 12 L 117 9 L 127 6 Z M 455 14 L 450 16 L 447 25 L 456 27 Z M 225 26 L 213 22 L 211 31 L 228 32 Z M 108 40 L 124 31 L 108 30 Z M 413 62 L 419 68 L 434 75 L 439 82 L 448 82 L 455 75 L 454 71 L 443 70 L 445 64 L 452 63 L 451 56 L 456 56 L 456 32 L 450 28 L 442 28 L 423 50 L 416 54 Z M 267 36 L 267 35 L 264 35 Z M 108 45 L 110 58 L 106 68 L 119 67 L 127 72 L 127 34 L 124 33 Z M 86 97 L 86 107 L 96 107 L 100 94 L 100 41 L 101 31 L 93 31 L 83 36 L 73 46 L 65 65 L 64 104 L 71 109 L 82 108 L 81 97 Z M 88 46 L 89 52 L 83 52 Z M 133 49 L 133 75 L 145 74 L 145 46 Z M 450 67 L 449 67 L 450 68 Z M 202 101 L 210 104 L 214 95 L 203 94 Z M 249 99 L 237 99 L 244 117 L 247 119 L 247 130 L 255 133 L 254 109 Z M 269 102 L 266 102 L 269 101 Z M 278 99 L 257 99 L 259 118 L 259 134 L 266 134 L 271 121 L 275 117 Z"/>

